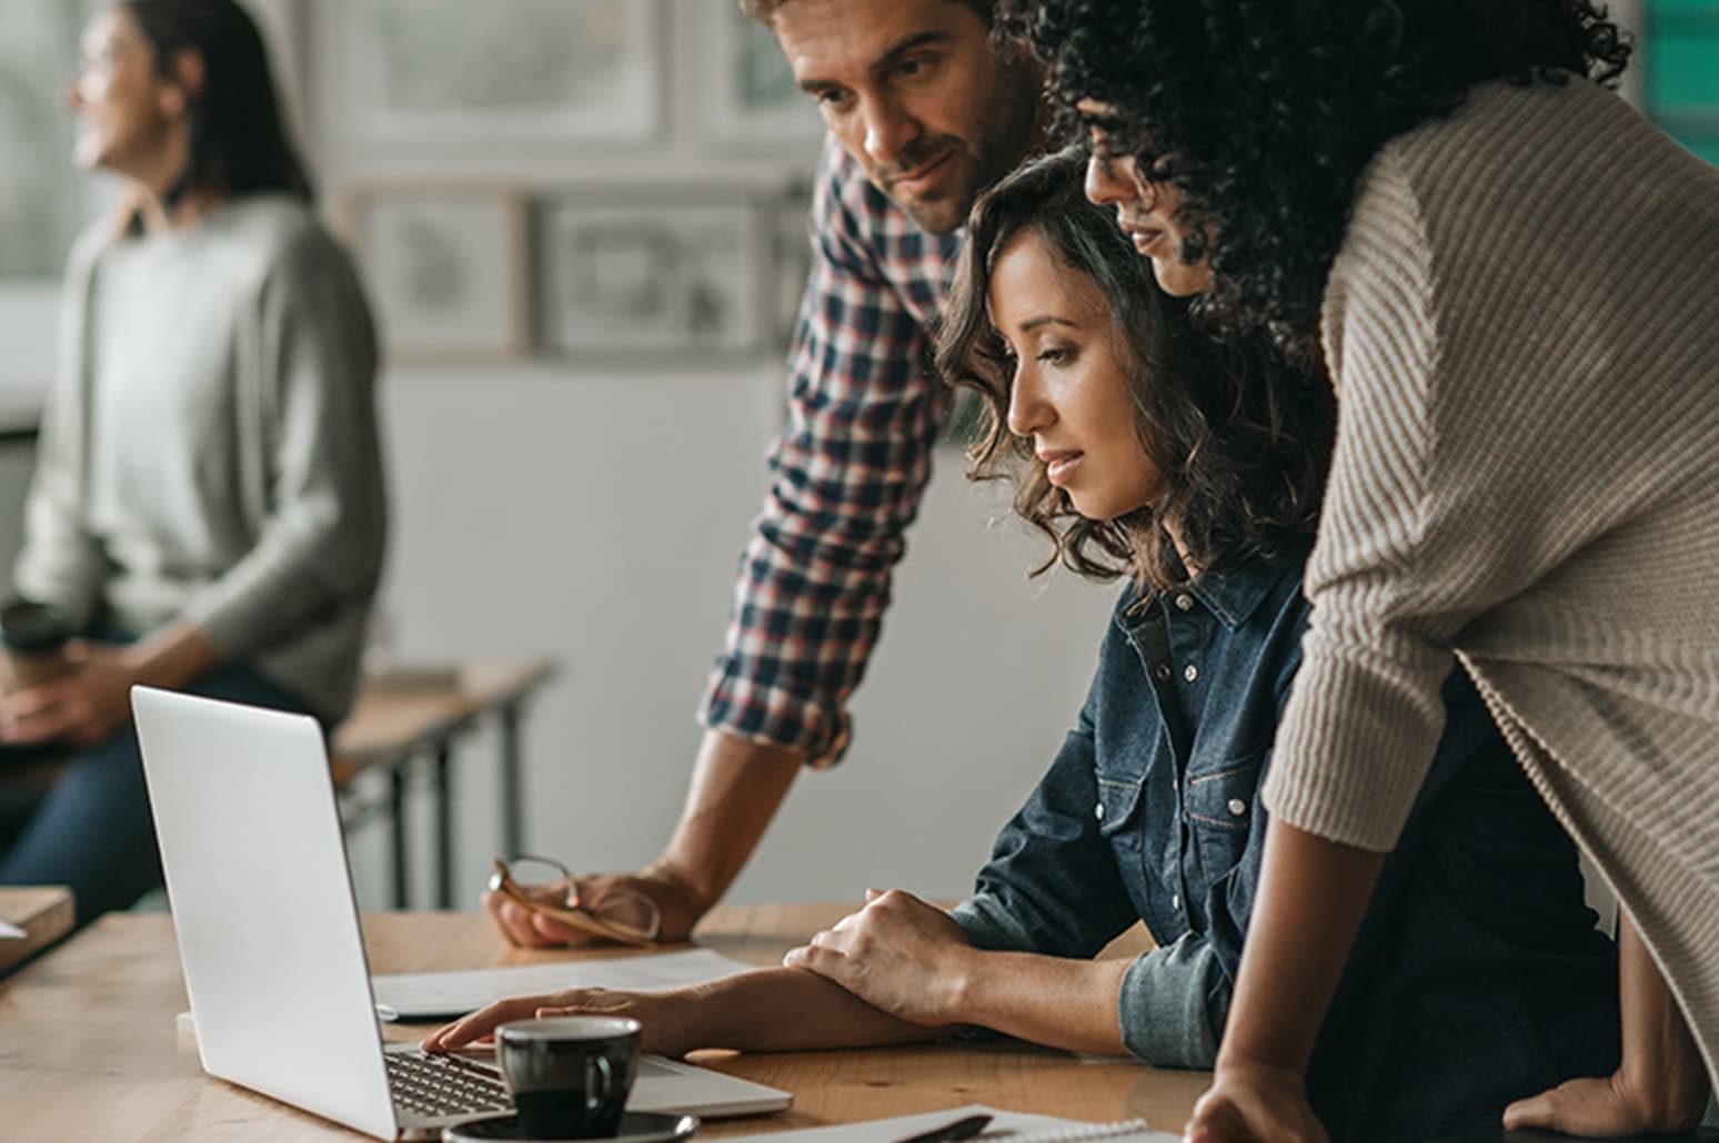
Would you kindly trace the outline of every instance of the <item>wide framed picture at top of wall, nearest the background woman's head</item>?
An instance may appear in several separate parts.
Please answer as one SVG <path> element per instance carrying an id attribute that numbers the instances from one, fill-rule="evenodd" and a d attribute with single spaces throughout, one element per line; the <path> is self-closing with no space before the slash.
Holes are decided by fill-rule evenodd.
<path id="1" fill-rule="evenodd" d="M 646 141 L 662 122 L 657 5 L 342 0 L 342 107 L 363 143 Z"/>

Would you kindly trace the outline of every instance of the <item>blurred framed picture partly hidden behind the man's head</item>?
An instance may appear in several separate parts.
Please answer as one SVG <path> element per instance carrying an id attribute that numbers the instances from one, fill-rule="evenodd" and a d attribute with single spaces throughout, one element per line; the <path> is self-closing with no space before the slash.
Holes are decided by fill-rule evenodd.
<path id="1" fill-rule="evenodd" d="M 701 3 L 701 58 L 708 98 L 701 101 L 708 138 L 741 144 L 817 146 L 823 117 L 794 83 L 780 45 L 737 3 Z M 810 151 L 808 151 L 810 153 Z"/>

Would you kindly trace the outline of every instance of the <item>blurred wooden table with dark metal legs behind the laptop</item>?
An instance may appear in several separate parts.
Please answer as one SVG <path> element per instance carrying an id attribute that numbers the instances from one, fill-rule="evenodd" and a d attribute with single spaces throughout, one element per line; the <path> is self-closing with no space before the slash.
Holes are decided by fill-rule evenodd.
<path id="1" fill-rule="evenodd" d="M 524 847 L 524 794 L 521 720 L 524 705 L 555 675 L 550 658 L 478 658 L 449 672 L 368 672 L 352 713 L 335 729 L 333 780 L 346 789 L 370 770 L 388 775 L 383 813 L 388 820 L 394 863 L 394 908 L 411 904 L 406 839 L 406 782 L 409 763 L 430 758 L 437 822 L 435 904 L 454 908 L 454 743 L 483 718 L 500 725 L 502 849 Z"/>

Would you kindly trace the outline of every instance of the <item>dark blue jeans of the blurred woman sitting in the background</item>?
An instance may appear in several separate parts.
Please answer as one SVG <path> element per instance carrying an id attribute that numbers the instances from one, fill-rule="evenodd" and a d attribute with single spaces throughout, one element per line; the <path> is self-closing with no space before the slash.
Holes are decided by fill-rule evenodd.
<path id="1" fill-rule="evenodd" d="M 184 691 L 308 713 L 301 700 L 246 667 L 223 667 Z M 0 746 L 0 768 L 10 760 L 50 755 L 62 751 Z M 210 808 L 211 813 L 253 810 Z M 79 751 L 45 796 L 24 804 L 0 803 L 0 885 L 69 885 L 79 926 L 124 909 L 160 883 L 162 859 L 134 729 Z"/>

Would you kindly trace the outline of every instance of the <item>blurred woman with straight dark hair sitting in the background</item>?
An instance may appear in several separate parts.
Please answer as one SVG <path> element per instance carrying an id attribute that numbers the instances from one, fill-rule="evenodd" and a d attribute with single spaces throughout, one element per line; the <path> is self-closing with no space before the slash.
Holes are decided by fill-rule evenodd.
<path id="1" fill-rule="evenodd" d="M 70 885 L 88 923 L 160 883 L 132 684 L 332 725 L 385 495 L 370 311 L 311 213 L 251 17 L 117 3 L 89 22 L 67 100 L 79 163 L 129 193 L 72 254 L 14 574 L 81 636 L 76 670 L 0 694 L 0 765 L 70 763 L 38 803 L 0 808 L 0 883 Z"/>

